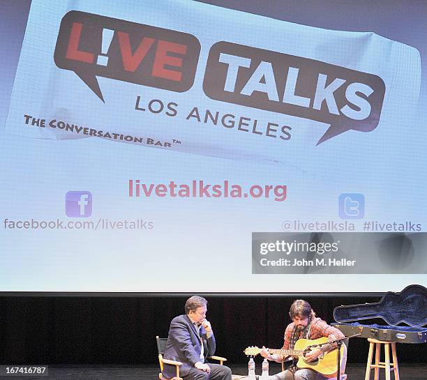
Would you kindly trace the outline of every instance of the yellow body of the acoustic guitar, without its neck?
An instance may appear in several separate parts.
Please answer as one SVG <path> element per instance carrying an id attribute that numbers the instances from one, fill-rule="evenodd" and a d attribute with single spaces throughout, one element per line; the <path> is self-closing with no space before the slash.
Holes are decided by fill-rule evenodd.
<path id="1" fill-rule="evenodd" d="M 327 343 L 327 337 L 320 337 L 316 340 L 308 340 L 308 339 L 299 339 L 295 343 L 294 350 L 305 350 L 309 346 L 313 346 L 313 344 L 324 344 Z M 341 346 L 340 352 L 340 363 L 343 363 L 343 356 L 345 354 L 345 344 Z M 304 356 L 298 357 L 298 368 L 309 368 L 310 370 L 314 370 L 319 372 L 324 377 L 336 377 L 336 349 L 323 354 L 323 356 L 319 356 L 317 360 L 313 362 L 308 362 Z"/>

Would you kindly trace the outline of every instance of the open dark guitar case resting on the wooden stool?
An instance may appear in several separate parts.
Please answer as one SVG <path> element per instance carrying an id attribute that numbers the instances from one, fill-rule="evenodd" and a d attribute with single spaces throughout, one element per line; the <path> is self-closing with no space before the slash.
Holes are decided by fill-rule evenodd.
<path id="1" fill-rule="evenodd" d="M 361 324 L 365 319 L 383 319 L 387 325 Z M 332 324 L 344 335 L 361 333 L 386 342 L 426 343 L 427 289 L 410 285 L 400 293 L 389 291 L 377 303 L 341 305 L 334 309 Z M 352 323 L 347 323 L 352 322 Z"/>

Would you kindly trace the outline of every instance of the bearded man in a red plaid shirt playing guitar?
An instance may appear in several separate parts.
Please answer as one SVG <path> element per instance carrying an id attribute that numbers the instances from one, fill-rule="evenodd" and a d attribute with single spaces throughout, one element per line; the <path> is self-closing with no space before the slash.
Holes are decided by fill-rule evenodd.
<path id="1" fill-rule="evenodd" d="M 295 342 L 304 338 L 315 340 L 320 337 L 327 337 L 329 342 L 343 339 L 344 335 L 337 328 L 329 326 L 322 319 L 317 318 L 315 312 L 312 310 L 310 304 L 304 300 L 296 300 L 292 303 L 289 315 L 292 319 L 292 324 L 289 324 L 285 330 L 285 341 L 283 342 L 282 349 L 294 349 Z M 327 344 L 321 348 L 312 349 L 305 358 L 309 362 L 316 360 L 318 356 L 336 348 L 336 344 Z M 268 360 L 275 360 L 282 362 L 287 359 L 278 354 L 271 355 L 265 347 L 262 347 L 260 353 L 264 358 Z M 345 368 L 345 362 L 347 358 L 343 357 L 343 363 L 341 370 Z M 287 370 L 270 376 L 269 380 L 324 380 L 327 377 L 323 377 L 322 374 L 315 372 L 309 368 L 299 369 L 295 365 L 292 365 Z"/>

